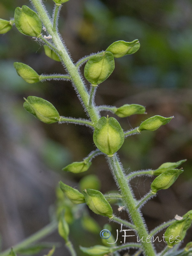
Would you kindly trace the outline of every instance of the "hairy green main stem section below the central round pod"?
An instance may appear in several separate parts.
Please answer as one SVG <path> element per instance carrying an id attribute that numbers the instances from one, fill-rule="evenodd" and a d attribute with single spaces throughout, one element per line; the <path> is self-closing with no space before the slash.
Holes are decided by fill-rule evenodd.
<path id="1" fill-rule="evenodd" d="M 139 236 L 139 239 L 141 239 L 142 237 L 146 239 L 149 236 L 147 227 L 145 225 L 145 222 L 142 218 L 140 211 L 136 208 L 136 201 L 126 181 L 122 165 L 119 162 L 119 159 L 116 154 L 114 154 L 114 156 L 112 157 L 108 157 L 108 160 L 110 163 L 113 176 L 115 177 L 116 184 L 121 190 L 123 201 L 127 209 L 129 210 L 129 214 L 132 218 L 133 224 L 136 227 L 136 231 Z M 141 243 L 141 247 L 143 248 L 143 251 L 146 256 L 156 255 L 153 245 L 151 243 Z"/>

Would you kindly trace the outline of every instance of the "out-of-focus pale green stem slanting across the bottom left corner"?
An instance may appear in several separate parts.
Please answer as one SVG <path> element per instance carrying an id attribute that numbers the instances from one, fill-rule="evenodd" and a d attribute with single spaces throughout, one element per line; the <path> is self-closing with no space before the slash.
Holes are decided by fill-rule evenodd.
<path id="1" fill-rule="evenodd" d="M 32 236 L 29 236 L 28 238 L 26 238 L 21 243 L 16 244 L 15 246 L 13 246 L 12 247 L 13 251 L 16 253 L 20 249 L 22 249 L 24 247 L 27 247 L 28 245 L 30 245 L 30 244 L 40 240 L 41 238 L 51 234 L 56 229 L 57 229 L 57 222 L 52 222 L 52 223 L 48 224 L 47 226 L 45 226 L 41 230 L 37 231 Z M 4 252 L 1 252 L 0 256 L 7 256 L 10 253 L 10 251 L 11 251 L 11 248 L 5 250 Z"/>

